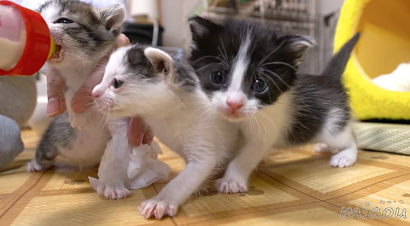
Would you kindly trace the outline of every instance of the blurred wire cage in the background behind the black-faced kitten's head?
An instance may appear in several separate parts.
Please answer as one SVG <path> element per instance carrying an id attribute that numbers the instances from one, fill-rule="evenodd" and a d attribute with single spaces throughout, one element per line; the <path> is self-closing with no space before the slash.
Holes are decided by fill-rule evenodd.
<path id="1" fill-rule="evenodd" d="M 316 45 L 304 54 L 301 72 L 318 74 L 332 56 L 338 12 L 319 16 L 318 0 L 203 0 L 201 13 L 214 20 L 239 17 L 261 21 L 285 34 L 309 35 Z"/>

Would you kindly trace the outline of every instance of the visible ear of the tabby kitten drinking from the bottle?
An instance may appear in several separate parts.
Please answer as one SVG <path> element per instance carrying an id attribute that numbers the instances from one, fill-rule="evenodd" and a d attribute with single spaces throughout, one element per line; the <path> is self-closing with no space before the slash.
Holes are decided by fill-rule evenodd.
<path id="1" fill-rule="evenodd" d="M 101 18 L 106 22 L 108 31 L 119 30 L 125 19 L 125 8 L 123 5 L 113 5 L 100 11 Z"/>

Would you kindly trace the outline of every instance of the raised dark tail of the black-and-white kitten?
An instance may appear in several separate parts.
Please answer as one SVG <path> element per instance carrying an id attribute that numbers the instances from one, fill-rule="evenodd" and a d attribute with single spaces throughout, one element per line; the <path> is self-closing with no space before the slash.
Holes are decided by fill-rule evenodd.
<path id="1" fill-rule="evenodd" d="M 332 57 L 329 64 L 327 64 L 322 76 L 326 76 L 329 79 L 337 79 L 340 82 L 344 68 L 346 67 L 359 37 L 360 33 L 358 32 L 343 45 L 343 47 Z"/>

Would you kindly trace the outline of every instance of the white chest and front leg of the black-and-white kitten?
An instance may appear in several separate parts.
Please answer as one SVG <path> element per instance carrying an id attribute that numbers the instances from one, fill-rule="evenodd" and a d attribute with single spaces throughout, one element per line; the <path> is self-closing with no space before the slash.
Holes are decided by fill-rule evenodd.
<path id="1" fill-rule="evenodd" d="M 290 94 L 285 93 L 275 104 L 239 123 L 245 143 L 229 163 L 223 178 L 218 180 L 216 188 L 219 192 L 248 191 L 248 178 L 258 163 L 272 147 L 284 145 L 283 131 L 288 129 L 292 119 L 290 114 L 285 113 L 292 111 L 289 98 Z"/>

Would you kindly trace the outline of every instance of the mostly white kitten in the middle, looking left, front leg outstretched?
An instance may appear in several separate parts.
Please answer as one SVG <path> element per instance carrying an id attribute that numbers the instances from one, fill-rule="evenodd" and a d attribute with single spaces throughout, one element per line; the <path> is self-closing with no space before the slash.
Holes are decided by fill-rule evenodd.
<path id="1" fill-rule="evenodd" d="M 146 218 L 174 216 L 240 144 L 238 129 L 214 110 L 192 67 L 155 48 L 114 52 L 93 96 L 111 117 L 144 118 L 187 163 L 157 196 L 142 202 L 139 210 Z"/>

